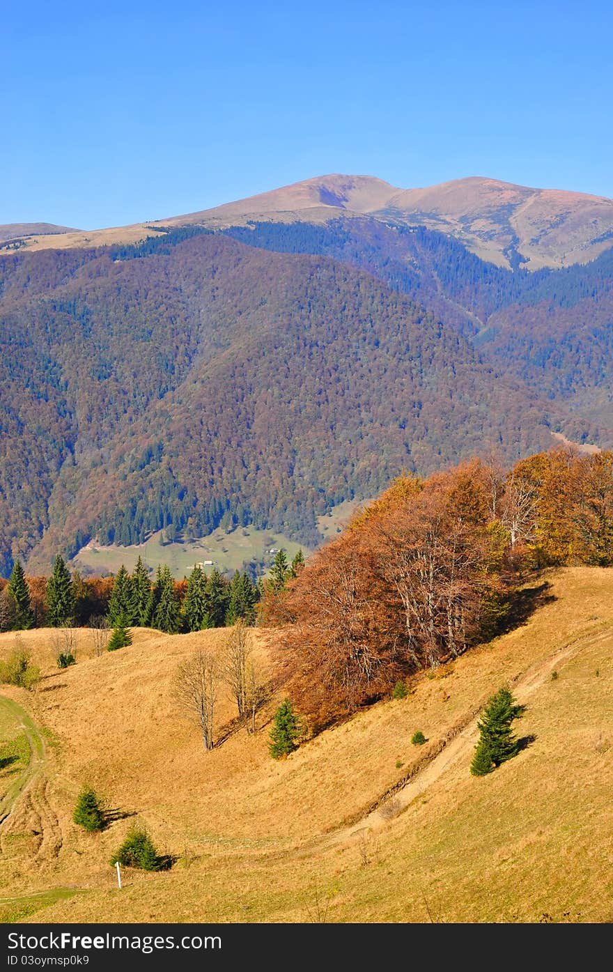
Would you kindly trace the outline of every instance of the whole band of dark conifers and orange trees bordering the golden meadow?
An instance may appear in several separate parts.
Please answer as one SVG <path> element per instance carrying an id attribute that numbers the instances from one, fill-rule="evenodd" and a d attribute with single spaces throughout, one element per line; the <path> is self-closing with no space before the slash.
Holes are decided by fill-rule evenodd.
<path id="1" fill-rule="evenodd" d="M 474 459 L 402 476 L 307 564 L 281 551 L 257 584 L 198 567 L 182 581 L 158 568 L 152 582 L 141 561 L 131 574 L 83 580 L 61 557 L 41 584 L 17 562 L 0 592 L 0 628 L 91 615 L 92 627 L 169 633 L 274 625 L 279 682 L 317 728 L 491 637 L 527 572 L 572 564 L 613 566 L 613 452 L 560 448 L 507 471 Z M 249 708 L 240 692 L 237 705 Z"/>

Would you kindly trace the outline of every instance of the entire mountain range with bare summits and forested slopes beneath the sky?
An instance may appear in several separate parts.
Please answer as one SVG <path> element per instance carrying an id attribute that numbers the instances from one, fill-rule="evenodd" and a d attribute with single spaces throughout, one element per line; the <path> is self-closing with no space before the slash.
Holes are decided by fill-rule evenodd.
<path id="1" fill-rule="evenodd" d="M 0 227 L 3 573 L 169 524 L 313 546 L 403 469 L 613 444 L 611 200 L 327 176 L 45 226 Z"/>

